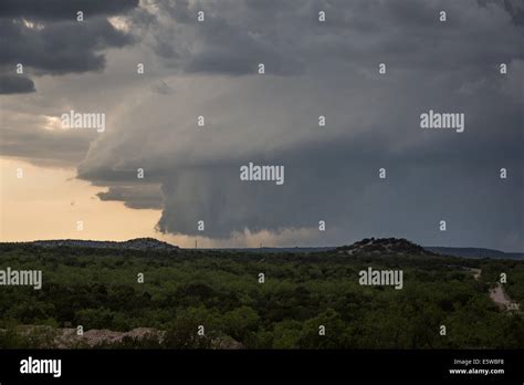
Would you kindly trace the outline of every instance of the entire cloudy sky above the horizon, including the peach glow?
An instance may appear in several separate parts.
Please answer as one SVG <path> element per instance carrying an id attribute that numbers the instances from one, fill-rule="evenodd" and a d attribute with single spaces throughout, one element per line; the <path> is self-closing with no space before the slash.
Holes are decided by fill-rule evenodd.
<path id="1" fill-rule="evenodd" d="M 3 0 L 0 37 L 1 241 L 524 251 L 522 1 Z"/>

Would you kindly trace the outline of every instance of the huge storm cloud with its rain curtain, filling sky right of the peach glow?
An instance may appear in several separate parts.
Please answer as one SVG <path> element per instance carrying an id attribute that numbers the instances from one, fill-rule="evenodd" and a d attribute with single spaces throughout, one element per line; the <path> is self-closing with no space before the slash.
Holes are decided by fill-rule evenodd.
<path id="1" fill-rule="evenodd" d="M 144 27 L 140 49 L 157 55 L 144 50 L 125 58 L 146 58 L 146 67 L 160 75 L 148 72 L 144 83 L 120 83 L 119 95 L 111 94 L 118 103 L 108 111 L 109 128 L 91 143 L 78 178 L 108 187 L 102 200 L 161 205 L 158 229 L 168 233 L 222 239 L 245 229 L 308 228 L 310 244 L 396 236 L 426 244 L 524 248 L 523 30 L 509 3 L 518 6 L 147 2 L 132 22 Z M 199 10 L 203 23 L 196 21 Z M 325 23 L 317 21 L 319 10 Z M 446 23 L 439 22 L 441 10 Z M 108 37 L 111 27 L 99 23 Z M 10 27 L 13 35 L 29 33 Z M 56 34 L 49 44 L 69 46 Z M 95 32 L 76 39 L 95 53 L 84 58 L 91 69 L 103 65 L 101 48 L 129 43 Z M 34 65 L 59 67 L 36 52 Z M 261 62 L 263 76 L 255 74 Z M 386 75 L 378 74 L 382 62 Z M 507 74 L 500 74 L 500 63 Z M 63 71 L 75 71 L 73 62 L 67 65 Z M 428 110 L 464 113 L 464 133 L 421 129 L 419 116 Z M 321 114 L 327 118 L 322 128 Z M 206 127 L 196 127 L 199 115 Z M 239 168 L 249 162 L 284 165 L 284 185 L 241 181 Z M 386 180 L 378 178 L 380 167 Z M 502 167 L 507 180 L 499 177 Z M 144 180 L 137 168 L 145 169 Z M 447 232 L 438 229 L 441 219 Z M 197 231 L 198 220 L 206 221 L 205 232 Z M 317 231 L 318 220 L 326 221 L 326 232 Z"/>

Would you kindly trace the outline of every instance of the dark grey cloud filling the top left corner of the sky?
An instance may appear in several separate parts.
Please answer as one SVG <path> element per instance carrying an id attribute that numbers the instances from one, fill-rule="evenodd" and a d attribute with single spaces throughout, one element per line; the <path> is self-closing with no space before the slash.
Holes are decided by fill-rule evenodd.
<path id="1" fill-rule="evenodd" d="M 103 70 L 104 50 L 135 41 L 106 18 L 125 13 L 137 4 L 137 0 L 0 2 L 1 74 L 15 75 L 18 63 L 24 65 L 24 73 L 38 75 Z M 84 21 L 76 21 L 77 11 L 84 12 Z M 12 82 L 9 93 L 17 90 Z M 20 92 L 27 92 L 22 82 L 18 82 Z"/>

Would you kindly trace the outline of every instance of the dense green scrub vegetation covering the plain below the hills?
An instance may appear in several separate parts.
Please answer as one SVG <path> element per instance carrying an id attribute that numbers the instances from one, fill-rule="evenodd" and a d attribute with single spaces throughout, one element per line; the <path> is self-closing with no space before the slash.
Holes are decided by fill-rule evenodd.
<path id="1" fill-rule="evenodd" d="M 217 347 L 217 341 L 247 348 L 524 347 L 522 314 L 501 311 L 488 295 L 505 272 L 507 292 L 522 306 L 523 261 L 1 244 L 0 269 L 7 267 L 42 270 L 43 287 L 0 287 L 0 347 L 52 344 L 19 325 L 78 324 L 166 331 L 161 341 L 126 339 L 115 347 Z M 368 267 L 402 269 L 404 289 L 360 285 L 358 272 Z M 482 269 L 481 279 L 469 268 Z"/>

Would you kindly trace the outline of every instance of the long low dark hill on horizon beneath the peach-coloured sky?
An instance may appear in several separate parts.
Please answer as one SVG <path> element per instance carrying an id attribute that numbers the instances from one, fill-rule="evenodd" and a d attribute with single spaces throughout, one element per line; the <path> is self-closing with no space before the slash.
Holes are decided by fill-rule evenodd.
<path id="1" fill-rule="evenodd" d="M 159 241 L 155 238 L 136 238 L 123 242 L 115 241 L 94 241 L 82 239 L 56 239 L 56 240 L 38 240 L 33 242 L 22 242 L 24 244 L 34 244 L 40 247 L 81 247 L 94 249 L 126 249 L 126 250 L 158 250 L 158 251 L 176 251 L 178 246 Z"/>

